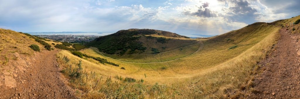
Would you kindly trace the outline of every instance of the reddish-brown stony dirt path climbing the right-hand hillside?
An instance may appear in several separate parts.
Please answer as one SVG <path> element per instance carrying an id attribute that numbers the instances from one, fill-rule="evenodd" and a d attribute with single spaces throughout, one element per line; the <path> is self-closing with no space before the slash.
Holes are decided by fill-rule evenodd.
<path id="1" fill-rule="evenodd" d="M 300 98 L 300 62 L 298 35 L 280 29 L 280 39 L 271 55 L 259 63 L 262 74 L 255 77 L 250 98 Z"/>

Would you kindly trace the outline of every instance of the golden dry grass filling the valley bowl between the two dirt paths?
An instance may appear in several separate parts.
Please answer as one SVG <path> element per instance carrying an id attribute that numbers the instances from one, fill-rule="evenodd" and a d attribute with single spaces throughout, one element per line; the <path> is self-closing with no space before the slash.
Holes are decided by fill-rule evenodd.
<path id="1" fill-rule="evenodd" d="M 83 98 L 234 98 L 246 95 L 241 94 L 245 89 L 254 90 L 253 74 L 259 67 L 256 64 L 276 43 L 278 30 L 279 27 L 274 25 L 255 23 L 240 30 L 201 40 L 201 44 L 193 46 L 193 50 L 187 52 L 195 52 L 201 45 L 199 51 L 187 57 L 172 58 L 174 53 L 179 54 L 180 51 L 165 52 L 165 56 L 156 54 L 165 57 L 161 59 L 167 62 L 161 62 L 158 60 L 160 58 L 151 54 L 145 54 L 144 57 L 110 56 L 116 60 L 103 56 L 93 48 L 80 52 L 107 59 L 120 67 L 103 65 L 93 59 L 80 59 L 69 51 L 61 51 L 58 57 L 61 66 L 66 70 L 68 66 L 76 68 L 81 60 L 83 71 L 91 71 L 97 75 L 90 77 L 94 74 L 84 73 L 85 78 L 77 79 L 84 82 L 81 84 L 83 86 L 78 82 L 72 83 L 72 86 L 83 91 L 78 94 Z M 68 57 L 70 62 L 64 62 L 63 57 Z M 67 73 L 65 75 L 68 76 Z M 123 77 L 122 80 L 119 77 Z M 136 81 L 124 81 L 126 77 Z M 109 85 L 110 88 L 107 80 L 114 82 Z M 102 86 L 92 87 L 95 83 L 101 83 Z M 161 88 L 154 91 L 154 86 Z"/>

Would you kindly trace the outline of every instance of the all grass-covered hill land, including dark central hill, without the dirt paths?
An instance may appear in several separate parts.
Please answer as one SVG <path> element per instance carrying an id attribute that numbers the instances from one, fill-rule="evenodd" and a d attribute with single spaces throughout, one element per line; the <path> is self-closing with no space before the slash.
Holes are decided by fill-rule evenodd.
<path id="1" fill-rule="evenodd" d="M 0 65 L 8 72 L 5 64 L 17 60 L 16 53 L 39 53 L 32 44 L 48 51 L 49 44 L 65 49 L 57 53 L 57 61 L 80 98 L 243 98 L 246 90 L 255 92 L 257 63 L 272 51 L 279 29 L 298 19 L 257 22 L 205 39 L 129 29 L 99 37 L 88 44 L 93 48 L 85 49 L 0 29 Z M 288 29 L 299 33 L 299 26 Z"/>

